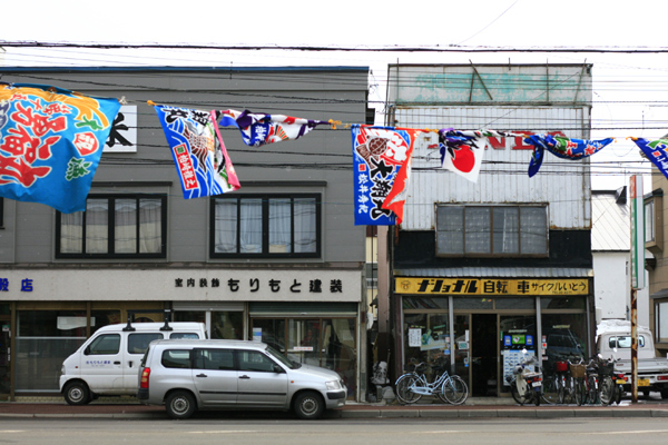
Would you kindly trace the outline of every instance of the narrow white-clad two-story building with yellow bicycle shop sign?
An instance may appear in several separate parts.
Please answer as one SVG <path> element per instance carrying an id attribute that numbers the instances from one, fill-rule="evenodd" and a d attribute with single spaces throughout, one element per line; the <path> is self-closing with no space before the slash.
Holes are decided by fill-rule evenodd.
<path id="1" fill-rule="evenodd" d="M 591 69 L 393 65 L 386 123 L 586 139 Z M 593 350 L 589 160 L 547 154 L 530 178 L 532 149 L 521 136 L 489 138 L 473 182 L 441 169 L 438 144 L 414 148 L 403 222 L 379 241 L 379 350 L 395 375 L 445 359 L 473 395 L 490 396 L 508 394 L 522 349 L 546 373 Z"/>

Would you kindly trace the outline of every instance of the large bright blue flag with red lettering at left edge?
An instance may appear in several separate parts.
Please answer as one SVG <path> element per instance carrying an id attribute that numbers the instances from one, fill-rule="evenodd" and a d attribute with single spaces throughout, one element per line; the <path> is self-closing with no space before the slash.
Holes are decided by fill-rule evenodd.
<path id="1" fill-rule="evenodd" d="M 120 102 L 57 87 L 0 85 L 0 196 L 63 214 L 86 197 Z"/>

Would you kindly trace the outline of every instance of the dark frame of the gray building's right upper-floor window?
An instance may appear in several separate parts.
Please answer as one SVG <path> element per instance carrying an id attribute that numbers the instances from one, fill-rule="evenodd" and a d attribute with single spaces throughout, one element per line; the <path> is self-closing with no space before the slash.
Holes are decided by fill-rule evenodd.
<path id="1" fill-rule="evenodd" d="M 243 200 L 259 199 L 262 201 L 262 249 L 259 253 L 240 253 L 240 206 Z M 291 253 L 269 253 L 269 200 L 289 199 L 291 202 Z M 315 251 L 295 253 L 295 199 L 314 199 L 315 201 Z M 219 201 L 236 202 L 236 253 L 216 253 L 216 204 Z M 322 195 L 321 194 L 244 194 L 236 196 L 212 197 L 209 209 L 209 258 L 320 258 L 322 255 Z"/>

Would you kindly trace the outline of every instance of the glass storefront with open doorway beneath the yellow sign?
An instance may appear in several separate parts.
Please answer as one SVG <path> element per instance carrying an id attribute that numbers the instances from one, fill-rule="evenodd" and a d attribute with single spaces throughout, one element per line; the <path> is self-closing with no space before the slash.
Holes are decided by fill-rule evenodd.
<path id="1" fill-rule="evenodd" d="M 556 360 L 589 349 L 583 297 L 405 296 L 402 306 L 403 363 L 450 363 L 474 397 L 509 396 L 505 377 L 524 356 L 539 356 L 548 377 Z"/>

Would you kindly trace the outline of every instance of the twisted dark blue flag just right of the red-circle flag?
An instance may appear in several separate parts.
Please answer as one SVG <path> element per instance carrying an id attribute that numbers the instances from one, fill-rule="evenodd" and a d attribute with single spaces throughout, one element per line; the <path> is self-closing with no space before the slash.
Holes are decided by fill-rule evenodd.
<path id="1" fill-rule="evenodd" d="M 529 177 L 531 178 L 540 170 L 546 150 L 559 158 L 578 160 L 596 154 L 613 140 L 612 138 L 588 140 L 552 135 L 531 135 L 524 138 L 525 144 L 531 144 L 534 147 L 529 164 Z"/>

